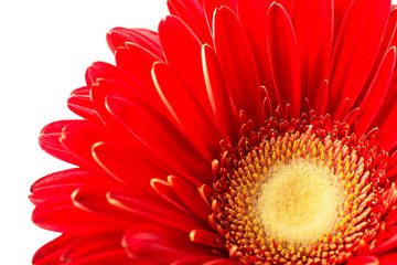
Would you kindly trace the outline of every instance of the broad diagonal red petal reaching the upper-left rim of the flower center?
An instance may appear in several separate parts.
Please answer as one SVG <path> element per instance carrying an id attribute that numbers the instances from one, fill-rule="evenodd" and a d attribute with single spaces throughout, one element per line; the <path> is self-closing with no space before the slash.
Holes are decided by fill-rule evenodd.
<path id="1" fill-rule="evenodd" d="M 211 165 L 159 112 L 143 103 L 119 96 L 108 96 L 107 107 L 114 118 L 146 146 L 146 157 L 154 156 L 170 169 L 170 173 L 181 173 L 197 186 L 202 184 L 201 181 L 211 181 Z M 132 144 L 135 141 L 132 139 Z M 197 177 L 192 178 L 192 174 Z"/>

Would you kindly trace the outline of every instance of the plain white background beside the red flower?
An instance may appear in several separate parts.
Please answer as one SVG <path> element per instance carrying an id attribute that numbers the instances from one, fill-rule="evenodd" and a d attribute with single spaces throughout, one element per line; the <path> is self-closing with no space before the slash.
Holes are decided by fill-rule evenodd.
<path id="1" fill-rule="evenodd" d="M 68 168 L 40 149 L 41 128 L 74 118 L 66 99 L 85 84 L 86 67 L 95 61 L 114 62 L 105 39 L 108 30 L 155 30 L 167 13 L 165 0 L 0 4 L 0 264 L 30 264 L 33 253 L 55 236 L 30 221 L 30 186 Z"/>

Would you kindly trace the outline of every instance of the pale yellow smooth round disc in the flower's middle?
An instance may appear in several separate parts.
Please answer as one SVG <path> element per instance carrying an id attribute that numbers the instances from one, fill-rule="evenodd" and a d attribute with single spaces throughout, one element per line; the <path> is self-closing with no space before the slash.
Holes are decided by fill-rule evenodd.
<path id="1" fill-rule="evenodd" d="M 265 231 L 296 246 L 332 231 L 343 197 L 329 169 L 294 159 L 272 167 L 265 178 L 253 200 L 253 211 Z"/>

